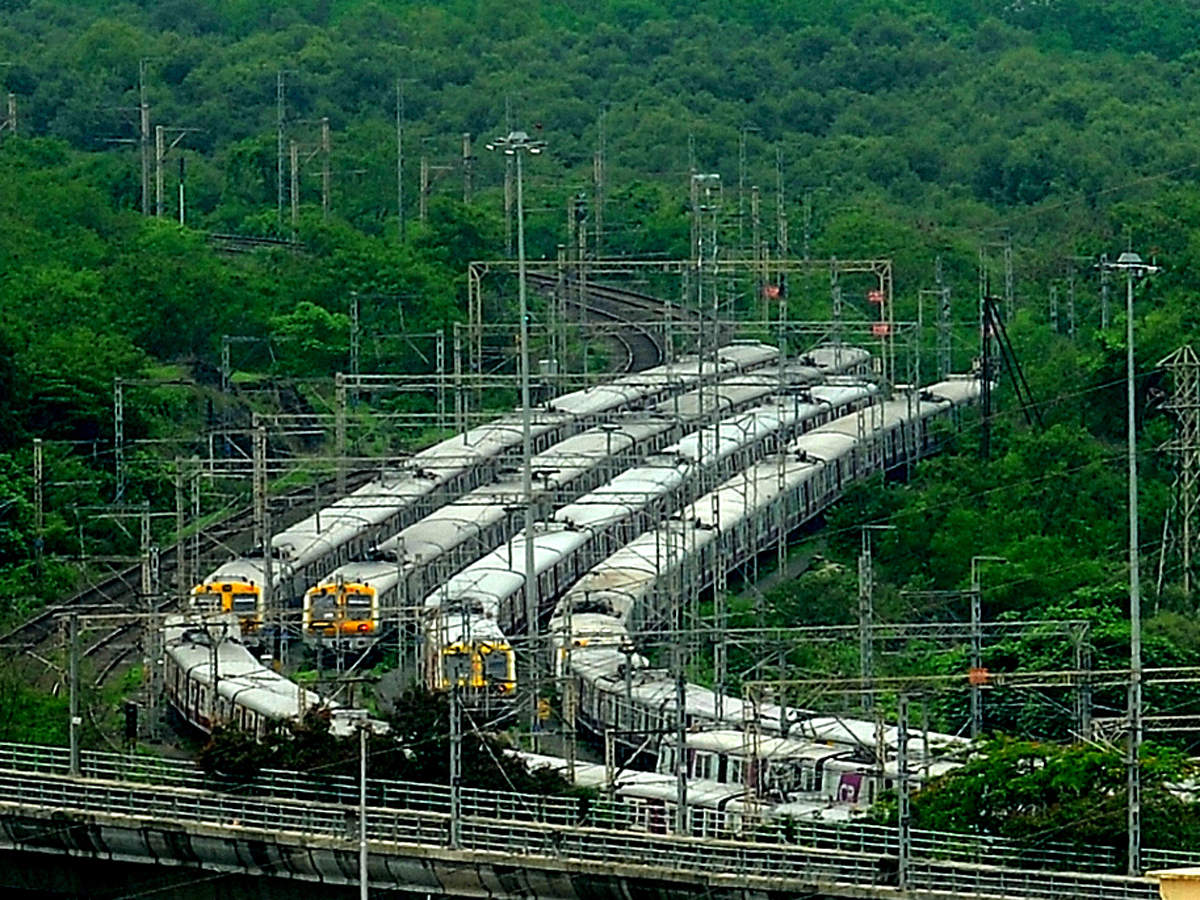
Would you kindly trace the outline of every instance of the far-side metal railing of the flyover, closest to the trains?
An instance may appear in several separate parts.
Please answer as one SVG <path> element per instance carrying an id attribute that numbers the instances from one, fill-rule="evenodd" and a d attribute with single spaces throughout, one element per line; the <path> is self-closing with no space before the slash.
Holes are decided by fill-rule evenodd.
<path id="1" fill-rule="evenodd" d="M 65 748 L 0 743 L 0 769 L 66 775 L 70 755 Z M 286 769 L 264 769 L 253 778 L 230 779 L 206 773 L 186 760 L 84 751 L 80 774 L 88 779 L 172 786 L 220 792 L 233 797 L 270 797 L 304 803 L 356 806 L 359 784 L 344 775 L 313 775 Z M 372 808 L 422 811 L 449 816 L 450 790 L 443 785 L 370 779 L 367 803 Z M 716 810 L 695 810 L 694 834 L 738 835 L 752 845 L 781 844 L 834 852 L 896 857 L 898 830 L 865 822 L 791 820 L 752 826 Z M 500 821 L 528 821 L 552 826 L 587 827 L 616 832 L 666 830 L 673 815 L 653 818 L 631 803 L 606 798 L 569 798 L 478 788 L 462 790 L 461 815 Z M 702 820 L 702 822 L 701 822 Z M 702 827 L 701 827 L 702 824 Z M 974 865 L 1014 865 L 1037 869 L 1112 871 L 1115 858 L 1104 847 L 1043 844 L 1036 848 L 1000 838 L 912 829 L 912 854 L 932 860 Z M 1146 851 L 1147 859 L 1168 851 Z M 1190 859 L 1195 859 L 1194 857 Z M 1156 863 L 1157 865 L 1157 863 Z"/>

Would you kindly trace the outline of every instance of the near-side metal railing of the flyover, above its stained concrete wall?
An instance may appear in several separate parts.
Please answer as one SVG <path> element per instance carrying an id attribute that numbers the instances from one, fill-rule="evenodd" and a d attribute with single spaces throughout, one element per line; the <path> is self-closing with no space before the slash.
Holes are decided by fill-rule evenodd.
<path id="1" fill-rule="evenodd" d="M 239 797 L 184 787 L 151 787 L 113 781 L 91 781 L 47 774 L 29 779 L 25 773 L 0 770 L 0 810 L 30 815 L 42 810 L 53 828 L 29 832 L 22 844 L 73 847 L 71 812 L 85 816 L 82 836 L 95 846 L 97 824 L 140 828 L 145 822 L 185 827 L 194 823 L 217 827 L 230 836 L 247 834 L 256 840 L 281 840 L 288 835 L 344 841 L 358 839 L 356 810 L 325 803 L 277 798 Z M 64 815 L 65 814 L 65 815 Z M 53 816 L 53 820 L 52 820 Z M 127 821 L 122 821 L 127 820 Z M 372 852 L 404 846 L 444 847 L 449 816 L 426 810 L 372 809 L 367 835 Z M 488 854 L 540 858 L 539 865 L 554 868 L 564 860 L 617 863 L 644 868 L 644 875 L 670 880 L 672 872 L 710 872 L 764 876 L 810 884 L 896 887 L 894 858 L 847 851 L 824 851 L 784 844 L 697 839 L 678 835 L 634 834 L 541 822 L 466 817 L 461 822 L 461 848 L 473 851 L 479 862 Z M 1153 882 L 1118 876 L 1045 872 L 997 866 L 918 862 L 908 868 L 908 887 L 941 895 L 985 894 L 1010 898 L 1072 896 L 1085 900 L 1152 900 Z"/>

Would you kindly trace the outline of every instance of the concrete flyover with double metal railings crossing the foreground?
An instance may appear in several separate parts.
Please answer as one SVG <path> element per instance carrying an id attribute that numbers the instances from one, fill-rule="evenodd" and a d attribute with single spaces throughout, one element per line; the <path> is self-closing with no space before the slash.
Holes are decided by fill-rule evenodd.
<path id="1" fill-rule="evenodd" d="M 353 781 L 300 773 L 230 785 L 192 763 L 0 745 L 0 850 L 347 886 L 359 880 Z M 218 790 L 226 788 L 226 790 Z M 1148 878 L 1067 871 L 1066 857 L 988 865 L 1002 845 L 804 823 L 784 842 L 636 830 L 631 808 L 436 785 L 373 782 L 366 812 L 372 889 L 446 896 L 598 900 L 703 892 L 718 898 L 1093 898 L 1150 900 Z M 451 828 L 451 820 L 456 827 Z M 841 838 L 838 836 L 839 830 Z M 1151 852 L 1152 853 L 1152 852 Z M 1086 862 L 1086 860 L 1085 860 Z M 1055 868 L 1057 865 L 1057 868 Z M 1049 868 L 1046 868 L 1049 866 Z M 0 876 L 4 877 L 4 876 Z M 298 886 L 299 887 L 299 886 Z"/>

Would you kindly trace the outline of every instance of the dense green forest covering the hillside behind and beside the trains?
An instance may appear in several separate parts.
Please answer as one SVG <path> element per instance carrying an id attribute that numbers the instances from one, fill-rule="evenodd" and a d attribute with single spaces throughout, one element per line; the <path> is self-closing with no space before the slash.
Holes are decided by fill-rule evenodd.
<path id="1" fill-rule="evenodd" d="M 125 427 L 187 455 L 227 402 L 222 336 L 260 342 L 238 352 L 242 377 L 294 379 L 298 402 L 313 403 L 318 389 L 305 382 L 346 368 L 352 293 L 395 301 L 380 331 L 462 320 L 467 263 L 505 254 L 504 163 L 481 146 L 512 126 L 548 145 L 527 170 L 533 257 L 553 258 L 566 241 L 568 203 L 581 193 L 593 229 L 602 215 L 592 252 L 686 257 L 689 174 L 720 173 L 722 244 L 744 246 L 744 200 L 757 186 L 773 253 L 782 214 L 793 256 L 892 258 L 902 318 L 916 318 L 940 260 L 955 319 L 968 323 L 956 332 L 959 370 L 976 353 L 980 259 L 998 290 L 1010 247 L 1009 328 L 1044 426 L 1025 422 L 1004 385 L 990 460 L 968 431 L 908 480 L 857 491 L 805 542 L 812 568 L 769 589 L 770 624 L 853 622 L 859 527 L 888 523 L 895 529 L 875 548 L 884 620 L 961 618 L 961 598 L 935 602 L 930 592 L 966 587 L 973 557 L 1003 557 L 986 574 L 986 619 L 1086 620 L 1094 665 L 1120 667 L 1123 295 L 1115 284 L 1104 328 L 1094 263 L 1127 247 L 1153 257 L 1164 270 L 1139 288 L 1135 314 L 1141 533 L 1153 560 L 1146 661 L 1200 659 L 1195 600 L 1174 558 L 1162 577 L 1158 564 L 1174 474 L 1160 448 L 1175 421 L 1157 362 L 1200 330 L 1200 19 L 1184 0 L 0 0 L 0 85 L 16 110 L 0 130 L 4 620 L 80 581 L 79 510 L 115 490 L 114 377 L 186 384 L 143 388 Z M 178 139 L 162 218 L 140 209 L 143 96 L 151 124 Z M 313 156 L 323 119 L 328 215 Z M 280 205 L 281 121 L 305 160 L 294 229 L 290 194 Z M 463 133 L 476 148 L 469 200 Z M 425 221 L 422 157 L 451 170 L 434 180 Z M 293 230 L 302 251 L 229 254 L 209 236 Z M 828 274 L 797 278 L 788 302 L 797 317 L 828 314 Z M 412 347 L 371 353 L 371 368 L 421 365 Z M 43 539 L 34 438 L 47 448 Z M 125 499 L 167 509 L 170 452 L 151 448 L 133 452 L 139 476 Z M 742 624 L 751 606 L 734 600 Z M 797 650 L 791 662 L 854 671 L 854 652 Z M 1044 632 L 989 647 L 985 661 L 997 671 L 1072 665 L 1067 644 Z M 961 648 L 928 647 L 895 665 L 965 664 Z M 12 683 L 6 695 L 22 690 Z M 1165 691 L 1147 698 L 1159 712 L 1187 703 Z M 1114 710 L 1121 702 L 1102 698 Z M 947 701 L 937 714 L 950 721 L 961 707 Z M 990 716 L 989 730 L 1066 736 L 1062 718 L 1032 700 Z M 5 722 L 6 736 L 22 733 Z M 1171 778 L 1187 768 L 1166 750 L 1156 758 Z M 1104 768 L 1081 764 L 1096 767 L 1082 780 Z M 947 788 L 919 809 L 942 827 L 953 803 L 966 805 Z M 1114 839 L 1120 809 L 1103 810 L 1109 830 L 1088 836 Z M 1147 821 L 1169 832 L 1166 816 Z"/>

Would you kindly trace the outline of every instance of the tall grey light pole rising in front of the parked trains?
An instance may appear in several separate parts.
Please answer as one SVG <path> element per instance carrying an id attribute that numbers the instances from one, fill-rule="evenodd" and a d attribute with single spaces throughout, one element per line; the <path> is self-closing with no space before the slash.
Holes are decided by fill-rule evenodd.
<path id="1" fill-rule="evenodd" d="M 508 137 L 496 138 L 486 145 L 488 150 L 500 150 L 508 157 L 516 157 L 517 164 L 517 296 L 520 298 L 520 335 L 521 335 L 521 439 L 522 439 L 522 464 L 521 464 L 521 491 L 524 498 L 526 524 L 524 524 L 524 612 L 526 632 L 529 637 L 529 655 L 533 668 L 536 671 L 538 655 L 538 580 L 533 564 L 533 439 L 530 437 L 532 422 L 529 420 L 529 306 L 526 295 L 526 263 L 524 263 L 524 194 L 521 182 L 522 167 L 521 157 L 524 154 L 536 156 L 546 149 L 545 140 L 534 140 L 523 131 L 511 131 Z M 534 678 L 534 721 L 538 716 L 538 682 Z"/>

